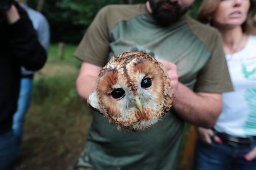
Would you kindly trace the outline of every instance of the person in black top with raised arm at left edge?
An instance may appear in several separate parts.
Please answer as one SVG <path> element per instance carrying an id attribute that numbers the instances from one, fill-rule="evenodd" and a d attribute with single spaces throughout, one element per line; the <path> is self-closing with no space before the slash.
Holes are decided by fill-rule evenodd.
<path id="1" fill-rule="evenodd" d="M 17 109 L 20 66 L 38 70 L 46 61 L 46 51 L 27 13 L 11 2 L 9 9 L 0 10 L 0 170 L 13 170 L 17 158 L 12 119 Z"/>

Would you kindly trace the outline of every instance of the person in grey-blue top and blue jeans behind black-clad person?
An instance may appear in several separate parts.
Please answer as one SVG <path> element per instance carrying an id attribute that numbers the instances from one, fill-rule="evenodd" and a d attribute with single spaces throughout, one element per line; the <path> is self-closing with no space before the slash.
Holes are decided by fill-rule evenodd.
<path id="1" fill-rule="evenodd" d="M 50 44 L 50 30 L 48 21 L 40 12 L 37 12 L 36 10 L 33 10 L 32 8 L 28 7 L 28 5 L 24 3 L 23 0 L 18 0 L 18 2 L 20 6 L 22 6 L 22 8 L 27 12 L 28 17 L 32 21 L 32 25 L 36 31 L 38 41 L 40 42 L 42 47 L 44 47 L 47 53 Z M 20 147 L 20 143 L 22 140 L 25 115 L 30 104 L 30 96 L 33 86 L 33 76 L 33 70 L 27 70 L 24 66 L 21 66 L 18 108 L 16 113 L 14 113 L 12 124 L 14 135 L 17 138 L 18 147 Z"/>

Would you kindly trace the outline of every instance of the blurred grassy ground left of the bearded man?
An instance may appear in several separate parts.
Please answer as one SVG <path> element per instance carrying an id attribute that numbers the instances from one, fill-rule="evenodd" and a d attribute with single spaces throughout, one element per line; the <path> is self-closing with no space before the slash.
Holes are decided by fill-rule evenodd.
<path id="1" fill-rule="evenodd" d="M 51 45 L 46 65 L 35 75 L 19 170 L 70 170 L 84 147 L 92 117 L 76 92 L 75 49 L 66 45 L 60 59 L 58 45 Z"/>

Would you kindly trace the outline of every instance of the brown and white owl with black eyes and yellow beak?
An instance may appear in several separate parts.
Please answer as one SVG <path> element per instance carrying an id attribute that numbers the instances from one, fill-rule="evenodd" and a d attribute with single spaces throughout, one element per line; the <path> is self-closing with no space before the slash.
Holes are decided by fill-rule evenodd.
<path id="1" fill-rule="evenodd" d="M 87 104 L 118 130 L 145 130 L 172 107 L 168 72 L 146 52 L 126 52 L 102 68 Z"/>

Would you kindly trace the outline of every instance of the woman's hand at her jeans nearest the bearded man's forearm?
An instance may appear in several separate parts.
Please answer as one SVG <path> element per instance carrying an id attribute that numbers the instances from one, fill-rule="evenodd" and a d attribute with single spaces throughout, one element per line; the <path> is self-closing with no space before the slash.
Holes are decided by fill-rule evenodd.
<path id="1" fill-rule="evenodd" d="M 218 136 L 214 136 L 214 131 L 212 129 L 206 129 L 204 127 L 197 127 L 198 137 L 204 143 L 211 144 L 212 139 L 218 144 L 222 144 L 222 140 Z"/>

